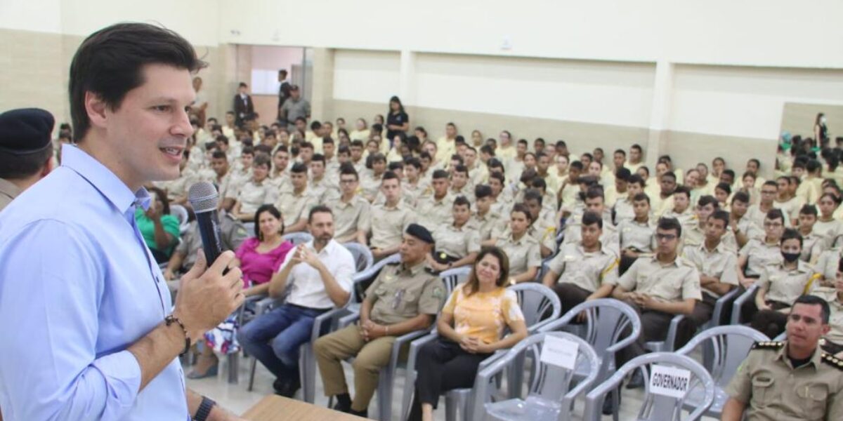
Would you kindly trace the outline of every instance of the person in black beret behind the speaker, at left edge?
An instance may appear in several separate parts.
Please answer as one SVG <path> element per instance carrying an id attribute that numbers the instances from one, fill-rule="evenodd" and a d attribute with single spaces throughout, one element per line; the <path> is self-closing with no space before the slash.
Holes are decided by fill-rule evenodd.
<path id="1" fill-rule="evenodd" d="M 0 114 L 0 211 L 52 169 L 53 116 L 37 108 Z"/>

